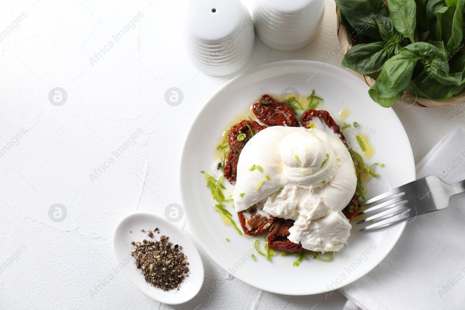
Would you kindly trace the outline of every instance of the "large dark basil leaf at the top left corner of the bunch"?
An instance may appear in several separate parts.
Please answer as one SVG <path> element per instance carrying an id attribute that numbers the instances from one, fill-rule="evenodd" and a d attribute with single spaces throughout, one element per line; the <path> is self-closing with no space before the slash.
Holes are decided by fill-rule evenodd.
<path id="1" fill-rule="evenodd" d="M 382 0 L 335 0 L 347 22 L 357 33 L 381 38 L 375 17 L 387 16 L 388 9 Z"/>

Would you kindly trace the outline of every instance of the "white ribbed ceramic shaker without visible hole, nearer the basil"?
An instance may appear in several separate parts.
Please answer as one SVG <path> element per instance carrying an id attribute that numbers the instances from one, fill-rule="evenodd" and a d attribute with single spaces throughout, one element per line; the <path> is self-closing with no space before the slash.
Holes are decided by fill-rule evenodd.
<path id="1" fill-rule="evenodd" d="M 266 45 L 293 51 L 309 44 L 319 32 L 325 0 L 254 0 L 254 26 Z"/>

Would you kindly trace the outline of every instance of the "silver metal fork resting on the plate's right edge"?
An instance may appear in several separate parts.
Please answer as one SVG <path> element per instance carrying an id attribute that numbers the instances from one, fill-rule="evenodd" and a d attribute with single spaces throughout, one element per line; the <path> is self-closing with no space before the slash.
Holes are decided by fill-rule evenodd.
<path id="1" fill-rule="evenodd" d="M 360 230 L 366 231 L 372 228 L 391 224 L 405 218 L 411 218 L 420 214 L 441 210 L 449 205 L 449 201 L 453 195 L 463 192 L 465 192 L 465 180 L 455 184 L 447 184 L 437 176 L 420 178 L 390 191 L 386 191 L 384 194 L 368 199 L 364 203 L 360 204 L 360 206 L 364 206 L 395 196 L 390 198 L 390 200 L 359 212 L 359 214 L 366 214 L 381 208 L 391 207 L 388 210 L 369 216 L 368 218 L 359 221 L 357 224 L 362 224 L 367 221 L 405 210 L 401 214 L 383 219 L 382 221 L 368 225 Z"/>

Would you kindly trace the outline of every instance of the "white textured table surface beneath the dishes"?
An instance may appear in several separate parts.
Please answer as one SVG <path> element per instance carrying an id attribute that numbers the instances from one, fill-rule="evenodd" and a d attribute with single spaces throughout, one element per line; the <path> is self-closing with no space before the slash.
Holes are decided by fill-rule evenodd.
<path id="1" fill-rule="evenodd" d="M 113 228 L 121 218 L 134 211 L 163 215 L 168 204 L 181 203 L 185 133 L 206 99 L 237 74 L 207 76 L 189 64 L 179 42 L 182 1 L 0 5 L 1 309 L 342 309 L 338 291 L 280 296 L 229 277 L 199 247 L 184 218 L 176 224 L 198 246 L 206 270 L 193 300 L 160 305 L 112 270 L 118 264 Z M 124 36 L 112 39 L 138 12 Z M 285 59 L 339 66 L 334 12 L 327 0 L 321 33 L 298 51 L 273 50 L 257 39 L 253 59 L 240 72 Z M 110 40 L 114 44 L 105 47 Z M 96 59 L 100 48 L 106 53 Z M 184 93 L 179 106 L 164 99 L 173 86 Z M 62 106 L 49 102 L 54 87 L 67 93 Z M 465 118 L 465 105 L 394 109 L 416 162 Z M 118 158 L 94 172 L 121 146 Z M 49 217 L 57 203 L 67 210 L 62 222 Z"/>

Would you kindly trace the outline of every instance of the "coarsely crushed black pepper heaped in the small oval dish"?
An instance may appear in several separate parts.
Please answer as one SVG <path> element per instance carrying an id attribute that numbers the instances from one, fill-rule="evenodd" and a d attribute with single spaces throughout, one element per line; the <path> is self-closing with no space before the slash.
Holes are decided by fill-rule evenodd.
<path id="1" fill-rule="evenodd" d="M 159 232 L 158 228 L 155 231 Z M 189 263 L 187 256 L 179 251 L 182 247 L 178 244 L 172 247 L 173 244 L 167 242 L 168 238 L 161 235 L 160 241 L 133 241 L 131 244 L 135 247 L 131 248 L 131 255 L 148 283 L 162 290 L 179 290 L 184 278 L 189 277 Z"/>

